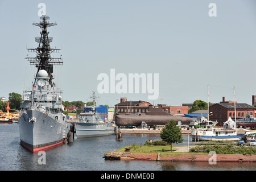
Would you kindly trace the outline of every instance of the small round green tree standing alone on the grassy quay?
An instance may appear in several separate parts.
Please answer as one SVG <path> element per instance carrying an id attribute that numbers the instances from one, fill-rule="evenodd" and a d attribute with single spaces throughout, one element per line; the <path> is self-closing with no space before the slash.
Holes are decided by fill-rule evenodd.
<path id="1" fill-rule="evenodd" d="M 164 142 L 171 144 L 172 151 L 172 143 L 181 143 L 183 142 L 183 138 L 181 135 L 181 129 L 179 126 L 176 126 L 177 123 L 174 119 L 168 121 L 165 127 L 163 127 L 160 137 Z"/>

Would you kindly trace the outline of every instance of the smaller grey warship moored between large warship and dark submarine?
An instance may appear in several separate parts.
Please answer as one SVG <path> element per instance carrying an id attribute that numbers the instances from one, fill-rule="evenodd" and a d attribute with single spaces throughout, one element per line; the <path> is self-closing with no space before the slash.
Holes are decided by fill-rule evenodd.
<path id="1" fill-rule="evenodd" d="M 93 106 L 90 111 L 85 111 L 79 115 L 79 121 L 73 122 L 77 138 L 101 137 L 113 135 L 115 133 L 115 124 L 101 118 L 101 113 L 97 112 L 95 102 L 95 92 L 93 92 Z M 108 111 L 108 110 L 107 110 Z"/>

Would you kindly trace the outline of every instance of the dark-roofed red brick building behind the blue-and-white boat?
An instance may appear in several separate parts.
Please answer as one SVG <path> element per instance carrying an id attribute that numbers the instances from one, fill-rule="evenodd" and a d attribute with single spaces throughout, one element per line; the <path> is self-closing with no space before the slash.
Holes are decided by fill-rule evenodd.
<path id="1" fill-rule="evenodd" d="M 241 119 L 246 117 L 247 112 L 255 117 L 255 107 L 245 103 L 236 102 L 236 118 Z M 225 97 L 222 97 L 222 102 L 213 104 L 209 107 L 209 119 L 210 121 L 218 121 L 217 125 L 223 126 L 223 123 L 231 117 L 235 118 L 234 102 L 225 101 Z"/>

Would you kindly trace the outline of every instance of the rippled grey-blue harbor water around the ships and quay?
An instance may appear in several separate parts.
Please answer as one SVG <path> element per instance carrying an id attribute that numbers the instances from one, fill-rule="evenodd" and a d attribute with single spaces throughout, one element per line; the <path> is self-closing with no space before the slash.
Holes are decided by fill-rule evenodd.
<path id="1" fill-rule="evenodd" d="M 106 151 L 131 145 L 144 144 L 146 140 L 160 139 L 159 134 L 123 134 L 123 141 L 115 140 L 115 135 L 76 139 L 47 150 L 46 164 L 40 164 L 41 155 L 32 154 L 20 146 L 17 123 L 0 125 L 0 170 L 1 171 L 197 171 L 197 170 L 255 170 L 255 163 L 218 162 L 156 162 L 144 160 L 105 160 Z M 190 139 L 189 139 L 190 140 Z M 187 144 L 184 135 L 183 144 Z"/>

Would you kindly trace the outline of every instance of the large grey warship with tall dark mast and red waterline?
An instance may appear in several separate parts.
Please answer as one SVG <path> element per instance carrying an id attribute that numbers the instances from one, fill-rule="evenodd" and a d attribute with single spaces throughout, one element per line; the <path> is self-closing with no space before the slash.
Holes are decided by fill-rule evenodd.
<path id="1" fill-rule="evenodd" d="M 36 53 L 36 57 L 25 58 L 37 68 L 32 88 L 23 90 L 18 123 L 20 144 L 31 152 L 47 150 L 67 140 L 62 91 L 55 86 L 52 75 L 53 65 L 63 65 L 63 60 L 51 57 L 51 53 L 60 52 L 60 49 L 50 47 L 52 38 L 48 37 L 47 28 L 56 23 L 49 23 L 48 19 L 49 16 L 41 16 L 39 23 L 33 23 L 42 29 L 41 36 L 35 38 L 39 46 L 28 48 L 28 52 Z"/>

